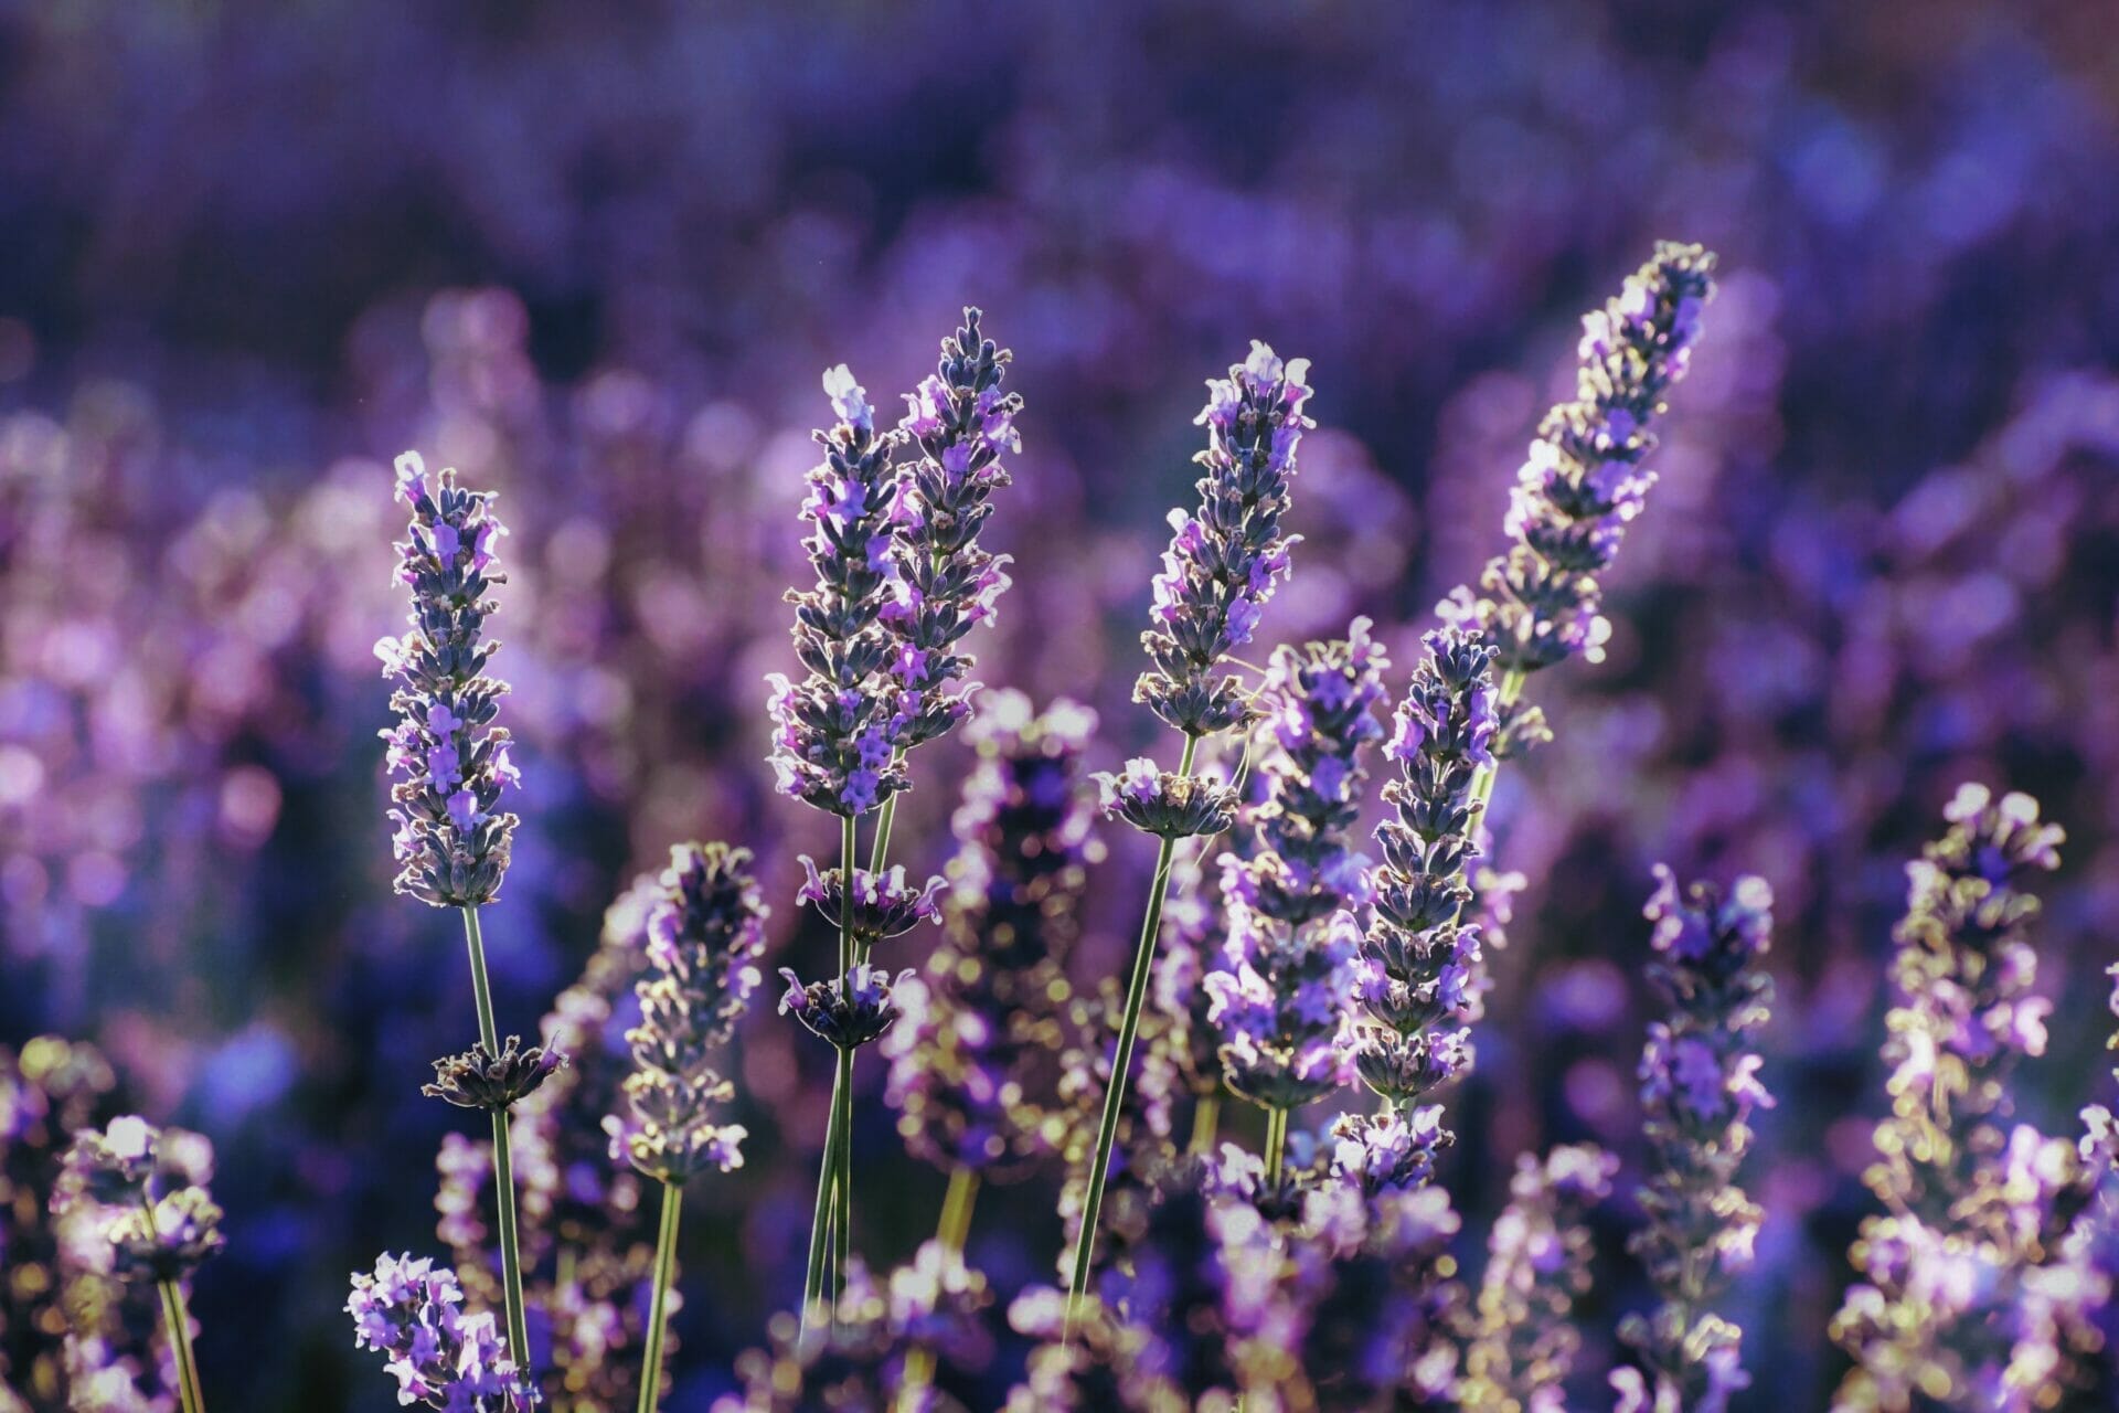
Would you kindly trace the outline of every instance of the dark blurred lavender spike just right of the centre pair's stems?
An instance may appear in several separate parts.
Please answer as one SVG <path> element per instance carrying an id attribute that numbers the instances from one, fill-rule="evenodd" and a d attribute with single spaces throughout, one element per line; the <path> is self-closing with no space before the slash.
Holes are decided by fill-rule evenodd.
<path id="1" fill-rule="evenodd" d="M 1096 714 L 1015 691 L 981 697 L 979 765 L 954 828 L 945 943 L 898 987 L 886 1099 L 907 1146 L 943 1169 L 1007 1171 L 1055 1155 L 1060 1055 L 1072 1036 L 1066 955 L 1093 858 L 1081 756 Z"/>

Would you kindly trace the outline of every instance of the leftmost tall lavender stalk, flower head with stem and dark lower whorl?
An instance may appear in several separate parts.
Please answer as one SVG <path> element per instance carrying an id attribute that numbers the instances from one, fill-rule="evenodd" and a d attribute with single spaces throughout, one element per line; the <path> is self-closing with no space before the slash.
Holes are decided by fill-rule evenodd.
<path id="1" fill-rule="evenodd" d="M 453 907 L 464 917 L 470 953 L 470 989 L 479 1040 L 470 1051 L 434 1061 L 437 1083 L 426 1093 L 462 1108 L 483 1108 L 494 1131 L 494 1208 L 509 1349 L 528 1360 L 523 1320 L 521 1246 L 515 1231 L 515 1178 L 509 1150 L 509 1108 L 532 1093 L 562 1057 L 538 1047 L 521 1051 L 515 1036 L 500 1044 L 485 938 L 479 909 L 500 894 L 519 818 L 502 797 L 521 784 L 509 758 L 506 727 L 496 727 L 506 682 L 487 674 L 498 642 L 485 621 L 498 604 L 487 597 L 504 583 L 496 572 L 506 527 L 492 511 L 492 491 L 464 489 L 456 470 L 428 479 L 420 453 L 396 462 L 396 494 L 411 508 L 411 530 L 396 547 L 398 580 L 411 591 L 409 629 L 384 638 L 375 655 L 384 676 L 396 678 L 390 710 L 398 725 L 384 731 L 392 773 L 400 780 L 392 847 L 396 890 L 430 907 Z"/>

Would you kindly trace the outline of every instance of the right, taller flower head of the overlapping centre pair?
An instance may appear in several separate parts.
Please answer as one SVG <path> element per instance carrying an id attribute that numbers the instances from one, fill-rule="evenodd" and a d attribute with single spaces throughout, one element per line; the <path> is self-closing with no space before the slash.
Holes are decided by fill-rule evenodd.
<path id="1" fill-rule="evenodd" d="M 905 477 L 907 515 L 898 532 L 894 597 L 884 621 L 898 650 L 890 674 L 905 722 L 903 746 L 947 733 L 971 712 L 971 657 L 964 636 L 994 616 L 1009 587 L 1007 555 L 979 549 L 979 527 L 992 515 L 992 494 L 1009 483 L 1002 451 L 1019 451 L 1015 417 L 1021 394 L 1002 392 L 1009 350 L 979 335 L 979 311 L 941 341 L 941 362 L 905 394 L 898 430 L 920 449 Z"/>

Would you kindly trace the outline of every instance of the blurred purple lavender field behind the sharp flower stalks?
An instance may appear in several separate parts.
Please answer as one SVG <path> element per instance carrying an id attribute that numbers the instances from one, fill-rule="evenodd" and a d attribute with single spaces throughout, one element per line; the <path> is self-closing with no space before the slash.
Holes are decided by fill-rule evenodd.
<path id="1" fill-rule="evenodd" d="M 396 451 L 498 485 L 515 532 L 526 828 L 487 945 L 530 1030 L 676 839 L 759 849 L 773 962 L 829 951 L 793 856 L 831 820 L 771 794 L 761 682 L 826 364 L 894 407 L 962 303 L 1015 350 L 979 676 L 1093 701 L 1112 767 L 1161 744 L 1127 693 L 1204 377 L 1250 337 L 1314 360 L 1265 633 L 1367 612 L 1403 674 L 1655 237 L 1716 248 L 1723 292 L 1610 661 L 1538 680 L 1560 739 L 1502 777 L 1530 888 L 1447 1176 L 1479 1227 L 1519 1150 L 1638 1163 L 1649 864 L 1763 873 L 1782 1104 L 1731 1313 L 1774 1371 L 1750 1407 L 1818 1405 L 1901 862 L 1958 780 L 2070 830 L 2022 1108 L 2111 1097 L 2115 30 L 2096 0 L 0 2 L 0 1042 L 95 1040 L 218 1144 L 216 1407 L 394 1407 L 345 1273 L 437 1250 L 460 1127 L 417 1095 L 468 1038 L 458 924 L 388 886 Z M 945 858 L 960 775 L 958 741 L 915 758 L 907 862 Z M 1117 968 L 1151 849 L 1106 839 Z M 674 1409 L 799 1294 L 829 1078 L 797 1036 L 742 1036 L 750 1163 L 691 1191 Z M 856 1246 L 898 1260 L 941 1182 L 862 1114 Z M 1640 1299 L 1630 1220 L 1587 1383 Z M 981 1203 L 1002 1292 L 1055 1250 L 1049 1186 Z"/>

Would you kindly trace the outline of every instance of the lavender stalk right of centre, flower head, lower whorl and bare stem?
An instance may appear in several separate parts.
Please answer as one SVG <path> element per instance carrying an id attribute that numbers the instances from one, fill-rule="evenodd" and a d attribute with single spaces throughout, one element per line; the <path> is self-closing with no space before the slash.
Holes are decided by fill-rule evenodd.
<path id="1" fill-rule="evenodd" d="M 1233 794 L 1193 775 L 1204 737 L 1250 720 L 1254 708 L 1242 684 L 1221 669 L 1223 659 L 1250 642 L 1274 585 L 1288 572 L 1295 538 L 1282 534 L 1288 508 L 1295 451 L 1312 422 L 1303 415 L 1310 388 L 1305 358 L 1282 362 L 1265 343 L 1250 345 L 1250 358 L 1229 369 L 1225 379 L 1208 379 L 1208 405 L 1199 424 L 1208 447 L 1197 455 L 1199 513 L 1172 511 L 1176 532 L 1155 576 L 1153 627 L 1142 633 L 1153 669 L 1134 686 L 1161 720 L 1185 737 L 1176 773 L 1153 761 L 1129 761 L 1123 775 L 1104 775 L 1104 809 L 1161 843 L 1148 883 L 1148 907 L 1134 949 L 1125 1013 L 1119 1023 L 1081 1229 L 1074 1237 L 1068 1309 L 1089 1286 L 1098 1218 L 1108 1182 L 1110 1148 L 1125 1108 L 1127 1074 L 1140 1008 L 1155 972 L 1155 943 L 1161 932 L 1163 898 L 1178 839 L 1216 835 L 1233 813 Z"/>

